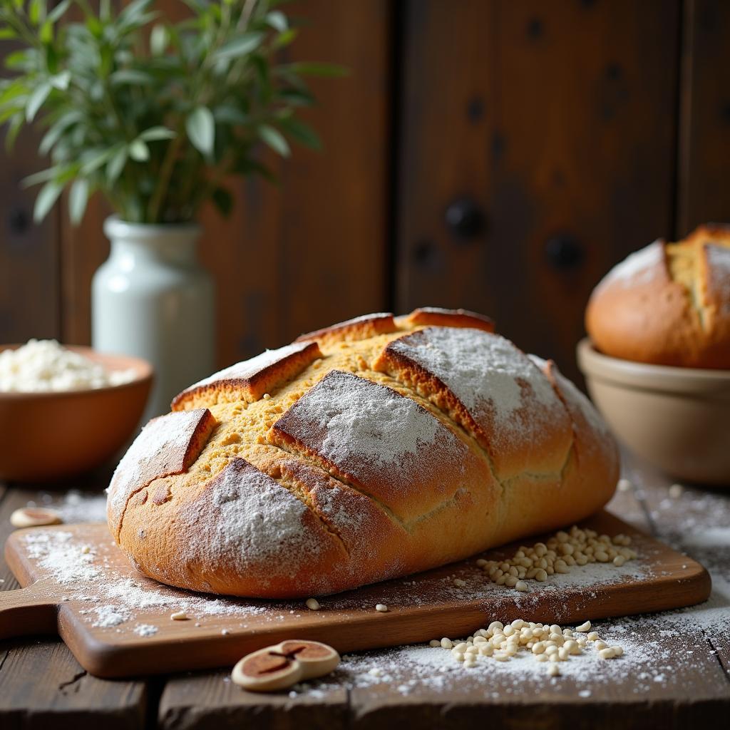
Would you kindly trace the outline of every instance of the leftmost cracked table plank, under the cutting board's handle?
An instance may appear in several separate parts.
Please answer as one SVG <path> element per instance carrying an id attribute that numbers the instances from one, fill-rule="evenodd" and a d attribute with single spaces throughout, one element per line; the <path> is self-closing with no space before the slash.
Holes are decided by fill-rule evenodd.
<path id="1" fill-rule="evenodd" d="M 1 489 L 1 487 L 0 487 Z M 38 493 L 8 491 L 0 502 L 0 544 L 12 526 L 9 515 Z M 0 591 L 18 583 L 0 558 Z M 77 730 L 142 728 L 144 682 L 108 682 L 88 675 L 58 639 L 0 641 L 0 726 L 3 730 L 74 727 Z M 67 724 L 66 724 L 67 723 Z"/>

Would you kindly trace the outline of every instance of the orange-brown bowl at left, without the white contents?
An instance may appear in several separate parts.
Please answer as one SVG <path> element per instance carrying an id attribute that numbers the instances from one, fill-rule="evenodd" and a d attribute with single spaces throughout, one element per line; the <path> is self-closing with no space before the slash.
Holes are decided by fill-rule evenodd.
<path id="1" fill-rule="evenodd" d="M 0 346 L 2 350 L 20 345 Z M 52 393 L 0 391 L 0 479 L 47 482 L 104 464 L 134 434 L 152 385 L 139 358 L 69 350 L 107 369 L 134 369 L 134 380 L 109 388 Z"/>

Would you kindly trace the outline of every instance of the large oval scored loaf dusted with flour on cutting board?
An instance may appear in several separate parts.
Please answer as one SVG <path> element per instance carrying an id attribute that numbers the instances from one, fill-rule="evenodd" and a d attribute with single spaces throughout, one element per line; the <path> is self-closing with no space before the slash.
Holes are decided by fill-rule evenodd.
<path id="1" fill-rule="evenodd" d="M 554 364 L 461 310 L 367 315 L 191 386 L 109 493 L 112 534 L 163 583 L 334 593 L 571 523 L 618 456 Z"/>

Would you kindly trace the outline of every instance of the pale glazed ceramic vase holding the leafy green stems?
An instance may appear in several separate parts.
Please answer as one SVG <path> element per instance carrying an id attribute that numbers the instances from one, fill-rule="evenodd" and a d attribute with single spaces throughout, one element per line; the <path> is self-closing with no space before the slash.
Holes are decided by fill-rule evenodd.
<path id="1" fill-rule="evenodd" d="M 104 221 L 111 253 L 93 277 L 91 339 L 155 368 L 145 421 L 215 365 L 215 291 L 196 258 L 200 227 Z"/>

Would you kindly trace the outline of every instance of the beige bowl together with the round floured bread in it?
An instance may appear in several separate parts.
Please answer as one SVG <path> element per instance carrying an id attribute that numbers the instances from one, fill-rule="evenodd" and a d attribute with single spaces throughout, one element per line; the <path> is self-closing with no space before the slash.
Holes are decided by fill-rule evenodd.
<path id="1" fill-rule="evenodd" d="M 588 391 L 632 451 L 675 478 L 730 484 L 730 226 L 653 242 L 585 312 Z"/>

